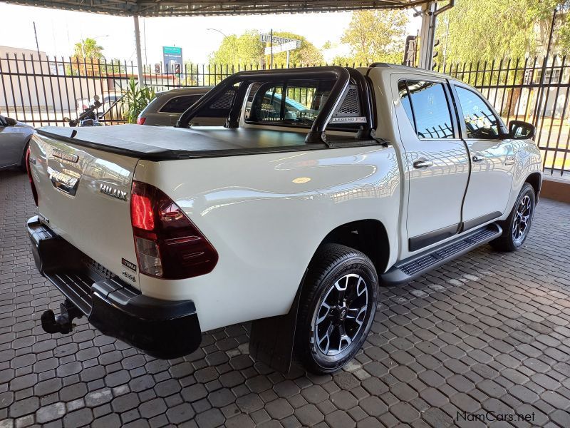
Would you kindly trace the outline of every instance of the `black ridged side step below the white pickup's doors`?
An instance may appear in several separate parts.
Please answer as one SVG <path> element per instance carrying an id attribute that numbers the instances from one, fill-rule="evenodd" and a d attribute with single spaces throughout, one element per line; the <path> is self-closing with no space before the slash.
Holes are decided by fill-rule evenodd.
<path id="1" fill-rule="evenodd" d="M 467 235 L 452 240 L 436 248 L 432 248 L 418 255 L 402 260 L 388 272 L 380 275 L 380 283 L 382 285 L 398 285 L 409 282 L 414 278 L 435 269 L 453 260 L 460 255 L 470 252 L 474 248 L 488 243 L 494 238 L 498 238 L 502 234 L 502 228 L 496 223 L 486 225 L 480 229 L 473 230 Z"/>

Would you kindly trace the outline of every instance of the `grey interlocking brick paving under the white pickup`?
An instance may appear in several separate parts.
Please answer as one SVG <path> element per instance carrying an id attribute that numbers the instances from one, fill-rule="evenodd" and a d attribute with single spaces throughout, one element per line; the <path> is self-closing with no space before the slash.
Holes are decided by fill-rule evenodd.
<path id="1" fill-rule="evenodd" d="M 382 289 L 363 352 L 322 377 L 252 361 L 247 325 L 171 361 L 85 320 L 73 335 L 46 334 L 39 317 L 61 295 L 33 267 L 33 214 L 26 175 L 0 172 L 0 428 L 570 427 L 570 205 L 542 200 L 517 253 L 484 246 Z M 534 419 L 457 419 L 489 411 Z"/>

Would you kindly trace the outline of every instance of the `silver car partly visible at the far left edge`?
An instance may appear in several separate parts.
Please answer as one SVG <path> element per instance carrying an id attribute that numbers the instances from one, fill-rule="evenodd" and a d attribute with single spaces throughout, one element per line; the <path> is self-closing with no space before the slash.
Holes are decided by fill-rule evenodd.
<path id="1" fill-rule="evenodd" d="M 33 131 L 31 125 L 0 115 L 0 170 L 11 166 L 26 170 L 26 149 Z"/>

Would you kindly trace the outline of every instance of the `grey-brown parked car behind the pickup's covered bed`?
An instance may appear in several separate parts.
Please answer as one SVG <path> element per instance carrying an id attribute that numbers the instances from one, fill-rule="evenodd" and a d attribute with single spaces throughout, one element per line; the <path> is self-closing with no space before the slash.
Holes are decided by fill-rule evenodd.
<path id="1" fill-rule="evenodd" d="M 158 92 L 156 98 L 138 115 L 139 125 L 174 126 L 192 104 L 198 101 L 204 93 L 212 89 L 212 86 L 195 86 L 189 88 L 176 88 L 170 91 Z M 202 118 L 202 123 L 197 125 L 223 126 L 224 117 Z"/>

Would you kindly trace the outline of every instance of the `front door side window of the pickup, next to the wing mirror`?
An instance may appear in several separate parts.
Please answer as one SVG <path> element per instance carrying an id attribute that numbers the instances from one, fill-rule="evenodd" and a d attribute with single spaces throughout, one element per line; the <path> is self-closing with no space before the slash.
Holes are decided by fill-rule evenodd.
<path id="1" fill-rule="evenodd" d="M 469 89 L 455 86 L 463 111 L 467 138 L 494 139 L 499 137 L 499 119 L 483 98 Z"/>

